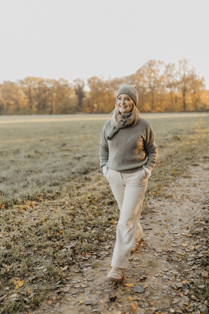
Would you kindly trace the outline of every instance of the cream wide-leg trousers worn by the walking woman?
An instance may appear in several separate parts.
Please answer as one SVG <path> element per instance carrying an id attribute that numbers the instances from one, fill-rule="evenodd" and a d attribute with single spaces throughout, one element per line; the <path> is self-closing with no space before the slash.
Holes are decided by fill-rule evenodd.
<path id="1" fill-rule="evenodd" d="M 109 168 L 106 178 L 120 209 L 111 266 L 127 268 L 131 246 L 143 235 L 139 219 L 148 179 L 144 169 L 134 173 L 120 173 Z"/>

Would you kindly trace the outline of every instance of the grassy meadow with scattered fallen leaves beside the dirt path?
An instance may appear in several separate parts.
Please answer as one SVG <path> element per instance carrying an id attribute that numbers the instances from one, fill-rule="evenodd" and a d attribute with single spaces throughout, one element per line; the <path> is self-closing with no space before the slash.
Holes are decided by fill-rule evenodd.
<path id="1" fill-rule="evenodd" d="M 188 176 L 188 166 L 200 158 L 208 159 L 209 114 L 141 116 L 151 123 L 159 146 L 146 215 L 146 199 L 169 197 L 166 185 Z M 117 204 L 98 156 L 100 132 L 109 118 L 0 116 L 0 313 L 38 306 L 71 275 L 81 254 L 115 234 Z"/>

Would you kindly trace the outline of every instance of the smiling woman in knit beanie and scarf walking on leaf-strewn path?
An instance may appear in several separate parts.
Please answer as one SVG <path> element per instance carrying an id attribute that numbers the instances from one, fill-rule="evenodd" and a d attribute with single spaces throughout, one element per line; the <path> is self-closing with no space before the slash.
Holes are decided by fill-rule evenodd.
<path id="1" fill-rule="evenodd" d="M 157 160 L 155 134 L 139 117 L 135 85 L 118 90 L 112 119 L 101 132 L 100 164 L 120 209 L 112 269 L 106 280 L 124 279 L 130 252 L 137 249 L 143 230 L 139 223 L 148 178 Z"/>

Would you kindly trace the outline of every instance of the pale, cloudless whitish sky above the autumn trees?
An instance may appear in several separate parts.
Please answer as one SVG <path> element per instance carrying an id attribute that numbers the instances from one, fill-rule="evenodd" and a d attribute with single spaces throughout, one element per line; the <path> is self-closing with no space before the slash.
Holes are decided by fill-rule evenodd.
<path id="1" fill-rule="evenodd" d="M 208 0 L 0 0 L 0 83 L 104 79 L 190 60 L 209 89 Z"/>

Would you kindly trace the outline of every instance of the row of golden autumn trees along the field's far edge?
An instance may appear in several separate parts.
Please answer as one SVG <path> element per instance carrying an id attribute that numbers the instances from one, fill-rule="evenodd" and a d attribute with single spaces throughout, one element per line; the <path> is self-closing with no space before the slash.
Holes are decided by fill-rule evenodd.
<path id="1" fill-rule="evenodd" d="M 209 111 L 204 77 L 182 59 L 178 64 L 149 60 L 121 78 L 93 76 L 85 82 L 26 77 L 0 84 L 0 114 L 109 113 L 122 84 L 135 84 L 140 112 Z"/>

